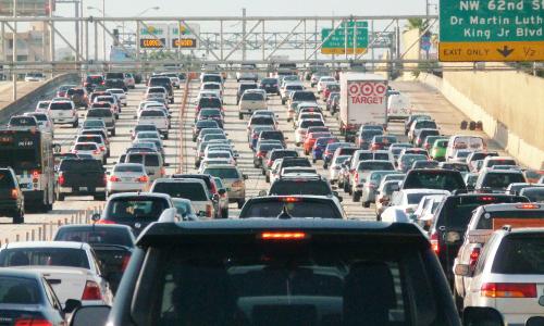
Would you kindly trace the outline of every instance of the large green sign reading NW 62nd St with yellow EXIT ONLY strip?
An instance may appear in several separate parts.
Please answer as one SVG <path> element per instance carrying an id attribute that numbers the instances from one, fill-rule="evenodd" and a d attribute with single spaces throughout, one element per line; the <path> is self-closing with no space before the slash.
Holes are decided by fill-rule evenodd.
<path id="1" fill-rule="evenodd" d="M 544 60 L 544 0 L 440 4 L 441 61 Z"/>

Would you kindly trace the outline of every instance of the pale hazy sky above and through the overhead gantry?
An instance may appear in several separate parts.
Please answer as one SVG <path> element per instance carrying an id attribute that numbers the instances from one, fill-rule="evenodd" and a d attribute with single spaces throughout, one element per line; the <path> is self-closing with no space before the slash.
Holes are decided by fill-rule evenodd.
<path id="1" fill-rule="evenodd" d="M 87 7 L 102 8 L 102 0 L 83 0 L 84 15 L 100 16 L 97 10 L 88 10 Z M 247 15 L 256 16 L 312 16 L 312 15 L 409 15 L 424 14 L 425 2 L 436 3 L 438 0 L 104 0 L 106 14 L 108 16 L 137 16 L 151 7 L 159 10 L 149 10 L 145 16 L 240 16 L 245 8 Z M 189 4 L 190 3 L 190 4 Z M 74 16 L 74 4 L 57 4 L 55 15 Z M 431 13 L 435 13 L 434 8 Z M 388 22 L 383 22 L 388 24 Z M 113 28 L 114 24 L 110 24 Z M 118 24 L 119 25 L 119 24 Z M 206 26 L 206 25 L 205 25 Z M 219 26 L 219 24 L 218 24 Z M 58 24 L 62 34 L 73 38 L 73 24 Z M 240 28 L 239 26 L 225 26 L 226 28 Z M 376 26 L 378 28 L 379 26 Z M 249 28 L 249 27 L 248 27 Z M 277 28 L 288 32 L 290 27 L 286 24 Z M 127 26 L 127 29 L 128 26 Z M 134 27 L 133 27 L 134 29 Z M 206 29 L 206 27 L 201 28 Z M 214 28 L 219 32 L 219 27 Z M 92 33 L 92 32 L 90 32 Z M 100 36 L 101 37 L 101 36 Z M 92 39 L 92 36 L 91 36 Z M 101 42 L 100 42 L 101 43 Z M 63 47 L 61 42 L 57 48 Z M 101 45 L 100 45 L 101 47 Z M 107 49 L 110 47 L 108 40 Z M 99 50 L 102 53 L 102 50 Z"/>

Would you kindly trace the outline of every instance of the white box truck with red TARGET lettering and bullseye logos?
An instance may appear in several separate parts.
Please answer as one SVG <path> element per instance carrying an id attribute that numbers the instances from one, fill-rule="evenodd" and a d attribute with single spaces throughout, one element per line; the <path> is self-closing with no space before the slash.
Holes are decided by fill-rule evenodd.
<path id="1" fill-rule="evenodd" d="M 387 79 L 362 73 L 341 74 L 341 135 L 353 141 L 363 124 L 387 126 Z"/>

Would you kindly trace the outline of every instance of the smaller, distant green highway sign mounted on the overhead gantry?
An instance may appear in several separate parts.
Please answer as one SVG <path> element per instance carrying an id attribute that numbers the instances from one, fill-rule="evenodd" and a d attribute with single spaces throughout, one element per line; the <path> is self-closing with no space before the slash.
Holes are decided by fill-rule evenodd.
<path id="1" fill-rule="evenodd" d="M 347 22 L 347 24 L 344 22 L 334 33 L 333 28 L 322 28 L 321 39 L 325 41 L 321 47 L 321 53 L 346 54 L 346 33 L 347 54 L 354 53 L 354 40 L 356 41 L 356 53 L 366 53 L 369 46 L 368 22 Z M 332 36 L 329 37 L 331 34 Z"/>

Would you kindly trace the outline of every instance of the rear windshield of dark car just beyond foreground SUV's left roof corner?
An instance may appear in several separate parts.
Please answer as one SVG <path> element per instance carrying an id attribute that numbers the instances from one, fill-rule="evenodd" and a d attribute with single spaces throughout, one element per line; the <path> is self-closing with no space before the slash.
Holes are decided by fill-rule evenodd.
<path id="1" fill-rule="evenodd" d="M 109 200 L 104 216 L 119 222 L 156 221 L 169 208 L 164 198 L 122 197 Z"/>

